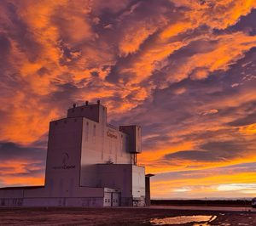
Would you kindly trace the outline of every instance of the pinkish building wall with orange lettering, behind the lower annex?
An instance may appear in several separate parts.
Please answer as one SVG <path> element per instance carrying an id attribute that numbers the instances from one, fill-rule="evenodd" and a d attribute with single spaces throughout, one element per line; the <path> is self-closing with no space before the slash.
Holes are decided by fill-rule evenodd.
<path id="1" fill-rule="evenodd" d="M 80 185 L 98 187 L 96 164 L 131 164 L 127 135 L 108 127 L 106 121 L 97 123 L 83 119 Z"/>

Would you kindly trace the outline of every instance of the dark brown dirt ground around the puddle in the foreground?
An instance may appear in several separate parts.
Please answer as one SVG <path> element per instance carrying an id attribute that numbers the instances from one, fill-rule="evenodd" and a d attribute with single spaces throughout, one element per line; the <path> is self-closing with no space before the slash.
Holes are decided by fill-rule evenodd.
<path id="1" fill-rule="evenodd" d="M 256 225 L 256 212 L 214 212 L 150 208 L 0 208 L 0 225 L 160 225 L 155 218 L 216 216 L 211 222 L 161 225 Z M 151 221 L 151 223 L 150 223 Z"/>

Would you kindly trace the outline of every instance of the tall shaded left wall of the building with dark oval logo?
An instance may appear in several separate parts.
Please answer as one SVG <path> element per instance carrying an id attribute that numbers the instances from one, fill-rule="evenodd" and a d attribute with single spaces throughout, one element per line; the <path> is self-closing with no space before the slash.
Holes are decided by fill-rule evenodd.
<path id="1" fill-rule="evenodd" d="M 73 196 L 73 188 L 79 187 L 82 122 L 82 118 L 50 122 L 46 196 Z"/>

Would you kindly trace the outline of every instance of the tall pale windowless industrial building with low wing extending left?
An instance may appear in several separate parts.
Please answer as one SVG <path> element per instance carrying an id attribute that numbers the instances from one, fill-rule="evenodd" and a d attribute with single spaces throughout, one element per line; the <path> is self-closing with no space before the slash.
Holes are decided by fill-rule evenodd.
<path id="1" fill-rule="evenodd" d="M 141 152 L 141 127 L 109 125 L 99 100 L 73 105 L 49 122 L 44 186 L 1 188 L 0 206 L 146 206 Z"/>

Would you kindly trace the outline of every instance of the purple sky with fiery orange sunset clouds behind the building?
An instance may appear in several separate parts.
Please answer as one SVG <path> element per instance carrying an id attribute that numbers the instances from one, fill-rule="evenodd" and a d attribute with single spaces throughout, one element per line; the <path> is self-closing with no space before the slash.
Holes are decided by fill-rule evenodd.
<path id="1" fill-rule="evenodd" d="M 255 0 L 0 1 L 0 187 L 44 184 L 49 121 L 143 127 L 154 199 L 256 196 Z"/>

